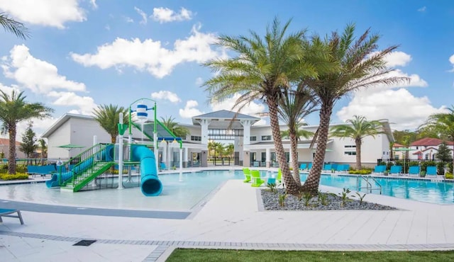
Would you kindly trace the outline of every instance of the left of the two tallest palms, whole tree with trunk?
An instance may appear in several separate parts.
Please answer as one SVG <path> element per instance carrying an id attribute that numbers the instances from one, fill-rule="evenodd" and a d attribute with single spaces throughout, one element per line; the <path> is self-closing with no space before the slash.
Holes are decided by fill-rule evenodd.
<path id="1" fill-rule="evenodd" d="M 252 101 L 263 101 L 270 114 L 270 126 L 275 142 L 277 161 L 288 193 L 298 193 L 299 185 L 294 181 L 285 159 L 284 147 L 277 116 L 282 90 L 289 89 L 297 73 L 316 76 L 316 69 L 304 61 L 303 30 L 287 34 L 290 21 L 281 28 L 277 18 L 268 26 L 265 36 L 250 31 L 250 38 L 221 35 L 218 45 L 236 53 L 236 57 L 213 59 L 204 66 L 217 74 L 204 83 L 212 101 L 222 101 L 234 93 L 240 93 L 233 108 L 241 110 Z"/>

